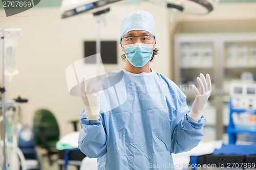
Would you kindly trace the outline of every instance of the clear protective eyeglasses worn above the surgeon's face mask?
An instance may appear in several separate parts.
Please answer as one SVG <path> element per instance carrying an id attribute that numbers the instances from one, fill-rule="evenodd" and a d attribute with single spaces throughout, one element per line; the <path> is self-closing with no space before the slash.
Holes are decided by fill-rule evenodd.
<path id="1" fill-rule="evenodd" d="M 153 35 L 137 35 L 122 37 L 122 41 L 124 42 L 124 44 L 135 44 L 137 42 L 151 44 L 153 43 L 154 39 L 155 37 Z"/>

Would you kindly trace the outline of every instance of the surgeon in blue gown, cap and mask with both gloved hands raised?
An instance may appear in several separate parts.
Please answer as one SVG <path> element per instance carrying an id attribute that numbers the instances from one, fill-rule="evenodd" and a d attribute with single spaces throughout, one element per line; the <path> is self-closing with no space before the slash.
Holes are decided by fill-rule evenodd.
<path id="1" fill-rule="evenodd" d="M 125 81 L 119 96 L 127 99 L 102 111 L 111 105 L 113 95 L 104 100 L 102 92 L 87 95 L 88 85 L 83 84 L 78 148 L 89 158 L 98 158 L 100 170 L 174 169 L 172 153 L 193 149 L 203 136 L 202 110 L 211 92 L 210 76 L 197 78 L 199 88 L 193 85 L 190 110 L 179 87 L 150 67 L 158 51 L 156 42 L 153 16 L 145 11 L 127 13 L 120 29 L 126 63 L 117 70 Z"/>

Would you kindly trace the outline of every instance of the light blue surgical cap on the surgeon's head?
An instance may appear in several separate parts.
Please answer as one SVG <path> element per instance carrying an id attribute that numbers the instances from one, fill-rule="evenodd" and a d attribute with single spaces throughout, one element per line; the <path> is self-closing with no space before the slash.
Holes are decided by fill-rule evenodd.
<path id="1" fill-rule="evenodd" d="M 120 43 L 122 37 L 133 30 L 144 30 L 151 33 L 156 41 L 156 23 L 154 17 L 149 12 L 135 11 L 127 13 L 122 21 L 120 28 Z"/>

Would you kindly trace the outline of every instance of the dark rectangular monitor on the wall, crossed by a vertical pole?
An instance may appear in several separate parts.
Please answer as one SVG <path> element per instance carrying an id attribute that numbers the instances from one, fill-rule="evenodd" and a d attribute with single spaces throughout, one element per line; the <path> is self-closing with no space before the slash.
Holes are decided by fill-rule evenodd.
<path id="1" fill-rule="evenodd" d="M 96 54 L 96 41 L 84 41 L 84 57 Z M 117 41 L 101 41 L 100 56 L 103 64 L 117 64 Z M 90 63 L 96 63 L 90 60 Z"/>

